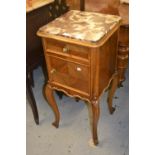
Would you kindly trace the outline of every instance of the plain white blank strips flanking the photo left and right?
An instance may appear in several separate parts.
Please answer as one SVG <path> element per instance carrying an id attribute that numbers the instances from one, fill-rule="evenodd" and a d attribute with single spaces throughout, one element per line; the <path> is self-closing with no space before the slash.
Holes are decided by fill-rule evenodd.
<path id="1" fill-rule="evenodd" d="M 130 0 L 130 155 L 155 154 L 154 15 Z M 0 154 L 26 155 L 26 1 L 1 1 L 0 21 Z"/>

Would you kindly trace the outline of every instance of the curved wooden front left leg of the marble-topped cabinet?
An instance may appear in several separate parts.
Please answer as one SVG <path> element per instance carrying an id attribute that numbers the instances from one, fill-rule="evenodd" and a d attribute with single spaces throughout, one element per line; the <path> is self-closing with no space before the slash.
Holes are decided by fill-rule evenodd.
<path id="1" fill-rule="evenodd" d="M 59 127 L 59 120 L 60 120 L 60 113 L 59 113 L 58 106 L 55 102 L 54 96 L 53 96 L 53 90 L 51 89 L 51 86 L 49 84 L 46 84 L 46 86 L 45 86 L 45 95 L 46 95 L 47 101 L 52 106 L 53 112 L 55 114 L 55 121 L 52 124 L 56 128 L 58 128 Z"/>

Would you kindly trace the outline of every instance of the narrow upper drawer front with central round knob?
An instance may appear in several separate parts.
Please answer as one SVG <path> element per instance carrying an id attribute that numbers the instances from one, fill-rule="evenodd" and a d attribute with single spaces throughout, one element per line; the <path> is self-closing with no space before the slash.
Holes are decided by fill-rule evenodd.
<path id="1" fill-rule="evenodd" d="M 46 51 L 72 57 L 75 59 L 89 60 L 89 48 L 68 44 L 53 39 L 46 39 Z"/>

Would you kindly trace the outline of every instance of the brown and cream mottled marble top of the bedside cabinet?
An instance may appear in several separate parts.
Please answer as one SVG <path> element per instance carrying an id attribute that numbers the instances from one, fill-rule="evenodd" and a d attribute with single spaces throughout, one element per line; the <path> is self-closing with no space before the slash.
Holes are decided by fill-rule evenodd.
<path id="1" fill-rule="evenodd" d="M 71 10 L 41 27 L 39 32 L 97 42 L 120 21 L 121 17 L 115 15 Z"/>

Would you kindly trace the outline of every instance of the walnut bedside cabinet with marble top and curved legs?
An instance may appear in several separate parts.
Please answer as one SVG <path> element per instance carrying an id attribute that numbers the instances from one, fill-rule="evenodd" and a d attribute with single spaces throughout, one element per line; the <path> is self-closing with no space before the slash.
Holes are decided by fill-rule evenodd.
<path id="1" fill-rule="evenodd" d="M 117 88 L 117 44 L 121 17 L 71 10 L 41 27 L 48 70 L 45 94 L 59 126 L 60 113 L 53 90 L 88 103 L 92 111 L 92 137 L 98 144 L 99 98 L 109 88 L 108 107 Z M 51 93 L 52 92 L 52 93 Z"/>

